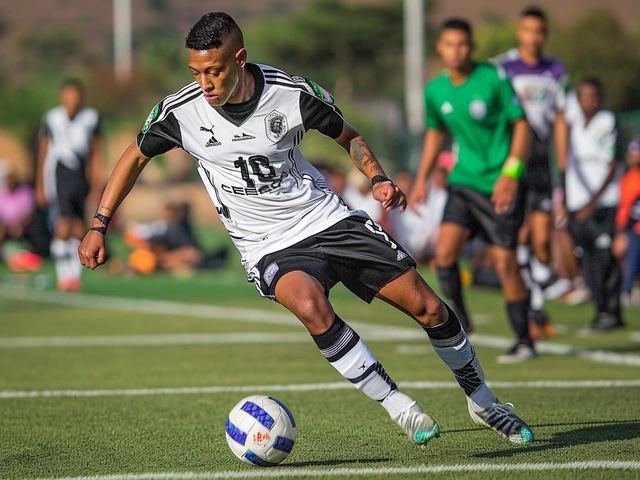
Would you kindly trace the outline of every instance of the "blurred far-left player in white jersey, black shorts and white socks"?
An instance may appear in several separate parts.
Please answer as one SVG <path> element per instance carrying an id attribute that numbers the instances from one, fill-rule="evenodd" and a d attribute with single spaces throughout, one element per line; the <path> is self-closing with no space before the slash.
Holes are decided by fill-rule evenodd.
<path id="1" fill-rule="evenodd" d="M 82 265 L 76 252 L 84 236 L 87 197 L 99 195 L 103 168 L 100 115 L 83 106 L 83 86 L 65 81 L 61 105 L 42 117 L 36 198 L 54 224 L 51 256 L 58 290 L 80 291 Z"/>

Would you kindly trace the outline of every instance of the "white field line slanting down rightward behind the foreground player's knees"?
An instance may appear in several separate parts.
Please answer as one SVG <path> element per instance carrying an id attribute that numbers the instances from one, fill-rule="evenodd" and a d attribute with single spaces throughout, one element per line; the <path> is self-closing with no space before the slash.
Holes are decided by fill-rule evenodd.
<path id="1" fill-rule="evenodd" d="M 14 287 L 10 285 L 0 285 L 0 297 L 78 308 L 133 311 L 139 313 L 207 318 L 210 320 L 257 322 L 302 328 L 300 322 L 292 314 L 268 312 L 258 309 L 216 307 L 214 305 L 198 305 L 163 300 L 136 300 L 97 295 L 60 294 L 58 292 L 42 292 L 32 288 Z M 386 325 L 354 322 L 351 320 L 349 324 L 354 327 L 365 340 L 371 339 L 374 341 L 384 338 L 388 341 L 426 341 L 424 333 L 417 327 L 389 327 Z M 470 339 L 474 345 L 484 347 L 507 349 L 513 345 L 512 339 L 491 335 L 472 334 Z M 585 350 L 575 348 L 571 345 L 551 342 L 538 342 L 536 348 L 538 352 L 549 355 L 576 356 L 600 363 L 640 367 L 640 355 L 620 354 L 605 350 Z"/>

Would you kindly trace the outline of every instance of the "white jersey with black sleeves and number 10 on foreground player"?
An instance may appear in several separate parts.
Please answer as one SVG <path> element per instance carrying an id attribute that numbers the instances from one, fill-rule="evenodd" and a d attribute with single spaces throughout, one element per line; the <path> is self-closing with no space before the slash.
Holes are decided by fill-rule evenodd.
<path id="1" fill-rule="evenodd" d="M 211 107 L 194 82 L 156 105 L 138 147 L 148 157 L 175 146 L 193 155 L 249 280 L 258 281 L 264 255 L 366 214 L 350 211 L 298 150 L 309 128 L 339 136 L 343 120 L 331 95 L 273 67 L 247 67 L 261 94 L 244 122 Z"/>

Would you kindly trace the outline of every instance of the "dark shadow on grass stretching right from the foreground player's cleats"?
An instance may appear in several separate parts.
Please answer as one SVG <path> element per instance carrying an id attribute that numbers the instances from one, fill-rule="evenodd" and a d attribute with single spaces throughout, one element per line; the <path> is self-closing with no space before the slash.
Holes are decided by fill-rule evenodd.
<path id="1" fill-rule="evenodd" d="M 544 452 L 546 450 L 573 447 L 576 445 L 590 445 L 599 442 L 616 440 L 633 440 L 640 438 L 640 420 L 622 420 L 611 422 L 576 422 L 532 425 L 534 427 L 559 427 L 570 425 L 588 425 L 566 432 L 554 432 L 551 438 L 543 438 L 531 447 L 511 448 L 496 452 L 478 453 L 477 458 L 512 457 L 520 453 Z"/>

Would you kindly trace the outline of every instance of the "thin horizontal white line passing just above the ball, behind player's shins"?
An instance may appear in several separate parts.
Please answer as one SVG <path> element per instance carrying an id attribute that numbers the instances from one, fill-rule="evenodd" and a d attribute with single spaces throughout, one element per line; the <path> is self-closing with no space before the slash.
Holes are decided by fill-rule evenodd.
<path id="1" fill-rule="evenodd" d="M 640 380 L 569 380 L 531 382 L 487 382 L 492 388 L 640 388 Z M 403 389 L 437 390 L 460 388 L 457 382 L 398 382 Z M 353 390 L 349 382 L 300 383 L 290 385 L 224 385 L 213 387 L 185 388 L 138 388 L 114 390 L 0 390 L 0 400 L 10 398 L 42 397 L 111 397 L 111 396 L 155 396 L 155 395 L 214 395 L 243 392 L 317 392 Z"/>

